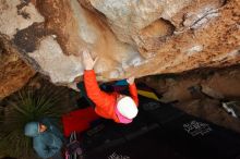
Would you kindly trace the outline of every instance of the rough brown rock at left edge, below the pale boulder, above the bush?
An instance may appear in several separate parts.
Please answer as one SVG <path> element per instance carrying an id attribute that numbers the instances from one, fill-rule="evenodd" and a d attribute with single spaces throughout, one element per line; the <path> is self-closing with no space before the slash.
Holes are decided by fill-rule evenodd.
<path id="1" fill-rule="evenodd" d="M 14 48 L 0 40 L 0 100 L 23 87 L 35 71 L 20 59 Z"/>

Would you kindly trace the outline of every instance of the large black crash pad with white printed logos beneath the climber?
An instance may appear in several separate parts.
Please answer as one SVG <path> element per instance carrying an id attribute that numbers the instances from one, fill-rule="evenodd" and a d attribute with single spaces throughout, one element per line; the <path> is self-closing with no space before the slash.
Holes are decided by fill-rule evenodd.
<path id="1" fill-rule="evenodd" d="M 85 134 L 86 159 L 240 158 L 238 133 L 142 96 L 140 114 L 132 124 L 104 124 L 92 136 Z"/>

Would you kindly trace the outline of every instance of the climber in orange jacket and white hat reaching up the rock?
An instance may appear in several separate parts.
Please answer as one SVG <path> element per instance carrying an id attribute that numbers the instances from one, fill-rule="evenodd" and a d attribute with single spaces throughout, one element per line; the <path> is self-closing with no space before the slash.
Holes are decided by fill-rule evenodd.
<path id="1" fill-rule="evenodd" d="M 83 51 L 82 56 L 84 71 L 84 85 L 87 96 L 96 105 L 95 112 L 106 119 L 112 119 L 117 123 L 128 124 L 136 117 L 139 110 L 139 99 L 134 77 L 127 80 L 129 83 L 131 97 L 113 93 L 105 93 L 98 87 L 94 65 L 94 61 L 88 51 Z"/>

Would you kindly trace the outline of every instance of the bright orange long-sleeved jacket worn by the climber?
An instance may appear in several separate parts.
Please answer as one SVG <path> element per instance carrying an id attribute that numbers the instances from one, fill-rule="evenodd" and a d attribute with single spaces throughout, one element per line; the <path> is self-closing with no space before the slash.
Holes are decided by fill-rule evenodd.
<path id="1" fill-rule="evenodd" d="M 84 84 L 87 96 L 96 105 L 96 113 L 103 118 L 112 119 L 115 122 L 120 123 L 115 111 L 115 108 L 117 106 L 117 97 L 119 96 L 119 94 L 107 94 L 105 91 L 101 91 L 98 87 L 94 70 L 85 70 Z M 136 106 L 139 106 L 139 98 L 135 84 L 129 85 L 129 88 L 132 99 L 135 101 Z"/>

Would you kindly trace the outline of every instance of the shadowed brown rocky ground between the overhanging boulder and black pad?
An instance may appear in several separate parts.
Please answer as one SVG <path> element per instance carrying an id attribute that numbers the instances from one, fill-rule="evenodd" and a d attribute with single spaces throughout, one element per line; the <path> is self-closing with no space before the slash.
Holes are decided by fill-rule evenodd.
<path id="1" fill-rule="evenodd" d="M 197 70 L 180 75 L 147 76 L 140 81 L 156 89 L 163 96 L 161 101 L 178 100 L 175 106 L 187 113 L 240 132 L 240 120 L 220 107 L 220 100 L 240 101 L 240 65 L 223 70 Z M 202 86 L 204 94 L 193 93 L 190 89 L 193 86 Z"/>

